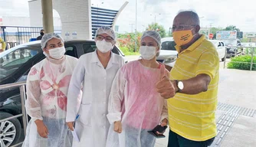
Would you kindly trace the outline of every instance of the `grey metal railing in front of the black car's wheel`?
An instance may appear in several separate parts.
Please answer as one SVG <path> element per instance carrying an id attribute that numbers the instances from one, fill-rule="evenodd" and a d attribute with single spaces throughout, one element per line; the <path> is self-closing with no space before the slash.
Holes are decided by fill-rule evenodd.
<path id="1" fill-rule="evenodd" d="M 28 125 L 28 117 L 27 117 L 27 113 L 25 111 L 25 98 L 26 98 L 25 85 L 26 85 L 26 82 L 8 83 L 8 84 L 5 84 L 5 85 L 0 85 L 0 90 L 6 90 L 6 89 L 9 89 L 9 88 L 19 87 L 20 94 L 21 94 L 21 111 L 22 111 L 22 114 L 18 114 L 16 116 L 11 116 L 11 117 L 8 117 L 8 118 L 5 118 L 5 119 L 0 119 L 0 123 L 8 121 L 10 119 L 16 119 L 18 117 L 22 117 L 24 135 L 26 136 L 26 130 L 27 130 L 27 125 Z M 22 143 L 23 142 L 19 142 L 15 145 L 11 145 L 11 147 L 21 145 Z"/>

